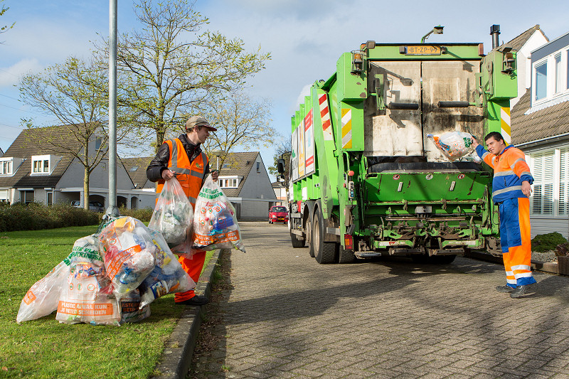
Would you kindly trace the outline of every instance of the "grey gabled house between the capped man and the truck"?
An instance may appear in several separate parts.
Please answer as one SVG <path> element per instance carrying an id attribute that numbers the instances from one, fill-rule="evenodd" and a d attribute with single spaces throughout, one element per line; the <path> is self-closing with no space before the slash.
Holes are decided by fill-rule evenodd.
<path id="1" fill-rule="evenodd" d="M 212 169 L 216 159 L 211 159 Z M 275 192 L 259 151 L 230 153 L 219 172 L 219 186 L 229 198 L 239 220 L 265 220 Z"/>

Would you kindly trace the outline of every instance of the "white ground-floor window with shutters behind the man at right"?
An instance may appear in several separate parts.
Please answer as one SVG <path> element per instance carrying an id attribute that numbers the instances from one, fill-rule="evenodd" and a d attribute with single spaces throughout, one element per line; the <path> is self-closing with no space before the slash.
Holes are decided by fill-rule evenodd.
<path id="1" fill-rule="evenodd" d="M 540 151 L 533 151 L 531 153 L 527 153 L 526 157 L 528 158 L 528 164 L 530 166 L 531 169 L 531 173 L 532 174 L 536 174 L 536 159 L 539 158 L 543 158 L 544 156 L 546 156 L 547 154 L 551 154 L 553 153 L 553 168 L 551 170 L 551 174 L 552 174 L 552 202 L 551 202 L 551 214 L 544 214 L 543 213 L 543 201 L 542 201 L 542 205 L 541 205 L 541 213 L 534 213 L 533 212 L 533 205 L 534 205 L 534 201 L 535 201 L 535 189 L 536 189 L 536 184 L 537 185 L 541 185 L 542 186 L 542 191 L 541 194 L 542 196 L 544 195 L 544 183 L 540 183 L 540 178 L 536 178 L 536 176 L 534 176 L 534 182 L 533 182 L 533 190 L 530 196 L 530 216 L 531 218 L 567 218 L 569 215 L 569 195 L 568 195 L 568 191 L 569 191 L 569 147 L 568 146 L 558 146 L 555 147 L 553 149 L 544 149 L 544 150 L 540 150 Z M 565 159 L 565 161 L 563 162 L 564 164 L 564 173 L 562 173 L 561 170 L 561 165 L 562 165 L 562 161 L 561 159 Z M 564 191 L 561 191 L 563 186 L 561 183 L 563 177 L 563 185 L 565 187 Z M 550 181 L 546 181 L 546 183 L 550 183 Z M 562 193 L 563 192 L 563 193 Z M 562 198 L 563 196 L 565 196 L 565 198 Z M 564 203 L 564 207 L 563 209 L 560 209 L 560 202 Z"/>

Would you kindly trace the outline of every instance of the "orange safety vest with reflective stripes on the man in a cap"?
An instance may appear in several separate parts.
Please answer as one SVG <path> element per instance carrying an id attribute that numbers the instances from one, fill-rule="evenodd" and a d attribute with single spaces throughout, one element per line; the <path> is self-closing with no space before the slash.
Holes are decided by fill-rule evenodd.
<path id="1" fill-rule="evenodd" d="M 180 182 L 184 193 L 192 206 L 196 206 L 196 199 L 201 190 L 203 177 L 208 165 L 208 156 L 201 151 L 201 154 L 196 156 L 192 162 L 186 154 L 186 149 L 180 139 L 169 139 L 166 141 L 170 149 L 170 159 L 168 161 L 168 169 L 176 173 L 176 179 Z M 156 186 L 156 201 L 158 196 L 164 188 L 164 179 L 160 179 Z"/>

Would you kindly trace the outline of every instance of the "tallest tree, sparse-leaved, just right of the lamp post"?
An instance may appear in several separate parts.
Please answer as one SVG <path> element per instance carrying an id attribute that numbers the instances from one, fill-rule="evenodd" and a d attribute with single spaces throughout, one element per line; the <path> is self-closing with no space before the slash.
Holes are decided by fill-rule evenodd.
<path id="1" fill-rule="evenodd" d="M 119 112 L 129 110 L 132 130 L 154 147 L 184 130 L 190 114 L 223 92 L 240 87 L 265 67 L 269 53 L 246 52 L 244 42 L 202 31 L 208 18 L 188 0 L 137 0 L 142 28 L 117 42 Z M 106 42 L 96 46 L 106 52 Z"/>

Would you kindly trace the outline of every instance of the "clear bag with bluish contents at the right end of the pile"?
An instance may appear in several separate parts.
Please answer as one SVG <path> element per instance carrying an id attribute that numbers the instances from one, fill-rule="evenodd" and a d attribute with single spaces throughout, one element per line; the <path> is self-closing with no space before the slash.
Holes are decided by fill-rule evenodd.
<path id="1" fill-rule="evenodd" d="M 151 230 L 152 242 L 156 246 L 156 265 L 140 284 L 140 307 L 147 306 L 154 299 L 172 292 L 186 292 L 196 287 L 187 272 L 172 254 L 161 233 Z"/>

